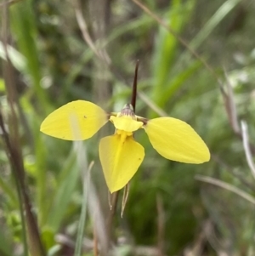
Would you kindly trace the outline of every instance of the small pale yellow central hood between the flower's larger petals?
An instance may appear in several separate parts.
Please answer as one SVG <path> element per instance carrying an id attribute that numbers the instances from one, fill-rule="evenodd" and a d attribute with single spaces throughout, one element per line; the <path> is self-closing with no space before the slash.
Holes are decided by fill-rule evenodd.
<path id="1" fill-rule="evenodd" d="M 139 128 L 142 128 L 143 122 L 136 121 L 132 117 L 122 116 L 122 117 L 113 117 L 110 118 L 113 122 L 116 129 L 125 131 L 125 132 L 134 132 Z"/>

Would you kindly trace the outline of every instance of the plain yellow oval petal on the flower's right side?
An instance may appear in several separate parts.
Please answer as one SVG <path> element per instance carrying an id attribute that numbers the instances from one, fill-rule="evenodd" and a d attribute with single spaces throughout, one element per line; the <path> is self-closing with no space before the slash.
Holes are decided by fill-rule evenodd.
<path id="1" fill-rule="evenodd" d="M 167 159 L 187 163 L 210 160 L 207 145 L 186 122 L 160 117 L 148 121 L 144 129 L 152 146 Z"/>

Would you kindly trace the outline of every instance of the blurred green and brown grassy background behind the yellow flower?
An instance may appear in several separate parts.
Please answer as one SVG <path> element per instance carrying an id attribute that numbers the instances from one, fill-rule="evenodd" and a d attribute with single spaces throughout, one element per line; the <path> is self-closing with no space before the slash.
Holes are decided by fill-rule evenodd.
<path id="1" fill-rule="evenodd" d="M 1 13 L 1 256 L 255 255 L 253 0 L 12 0 Z M 120 111 L 138 59 L 137 114 L 189 122 L 212 159 L 167 161 L 136 133 L 146 156 L 121 218 L 98 156 L 113 127 L 82 144 L 39 128 L 71 100 Z"/>

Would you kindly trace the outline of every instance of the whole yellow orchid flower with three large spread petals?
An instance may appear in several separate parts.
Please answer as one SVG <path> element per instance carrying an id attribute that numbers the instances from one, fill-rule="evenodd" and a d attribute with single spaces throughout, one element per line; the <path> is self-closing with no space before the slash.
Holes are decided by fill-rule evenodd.
<path id="1" fill-rule="evenodd" d="M 72 101 L 48 115 L 40 130 L 59 139 L 83 140 L 109 120 L 116 132 L 100 140 L 99 158 L 111 193 L 127 185 L 143 162 L 144 147 L 133 139 L 139 128 L 148 134 L 154 149 L 169 160 L 202 163 L 210 159 L 207 145 L 189 124 L 172 117 L 138 117 L 131 104 L 119 113 L 109 114 L 92 102 Z"/>

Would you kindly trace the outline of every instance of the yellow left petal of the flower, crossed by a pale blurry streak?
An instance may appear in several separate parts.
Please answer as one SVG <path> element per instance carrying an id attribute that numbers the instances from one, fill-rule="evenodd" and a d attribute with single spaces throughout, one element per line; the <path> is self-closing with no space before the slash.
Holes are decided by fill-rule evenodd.
<path id="1" fill-rule="evenodd" d="M 40 130 L 59 139 L 82 140 L 92 137 L 107 121 L 107 114 L 98 105 L 76 100 L 49 114 Z"/>

